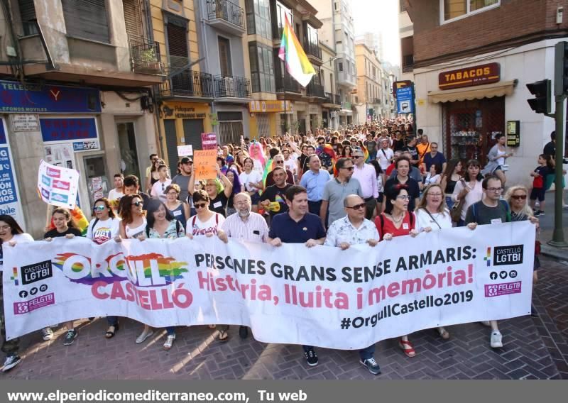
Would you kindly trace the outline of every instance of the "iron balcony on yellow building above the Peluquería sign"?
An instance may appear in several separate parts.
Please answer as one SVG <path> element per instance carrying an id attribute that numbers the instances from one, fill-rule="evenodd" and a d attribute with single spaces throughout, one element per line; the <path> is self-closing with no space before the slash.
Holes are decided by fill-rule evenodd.
<path id="1" fill-rule="evenodd" d="M 185 70 L 160 84 L 160 96 L 213 98 L 213 77 L 209 73 Z"/>

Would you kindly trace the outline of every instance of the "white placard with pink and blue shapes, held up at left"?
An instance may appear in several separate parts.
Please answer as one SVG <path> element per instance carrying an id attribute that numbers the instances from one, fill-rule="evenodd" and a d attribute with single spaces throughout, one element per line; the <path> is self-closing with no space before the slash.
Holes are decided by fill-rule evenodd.
<path id="1" fill-rule="evenodd" d="M 41 160 L 38 170 L 38 194 L 45 203 L 73 209 L 78 187 L 79 172 Z"/>

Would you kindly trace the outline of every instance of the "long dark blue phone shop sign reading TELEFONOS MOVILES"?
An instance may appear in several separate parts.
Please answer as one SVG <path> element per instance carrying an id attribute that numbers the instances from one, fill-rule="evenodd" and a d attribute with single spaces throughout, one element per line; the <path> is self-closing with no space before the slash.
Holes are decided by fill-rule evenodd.
<path id="1" fill-rule="evenodd" d="M 0 113 L 100 113 L 99 90 L 0 80 Z"/>

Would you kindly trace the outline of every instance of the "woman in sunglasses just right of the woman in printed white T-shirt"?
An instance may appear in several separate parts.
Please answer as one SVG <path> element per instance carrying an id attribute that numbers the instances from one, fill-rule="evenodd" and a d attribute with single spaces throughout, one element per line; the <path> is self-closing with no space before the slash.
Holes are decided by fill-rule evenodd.
<path id="1" fill-rule="evenodd" d="M 138 194 L 129 194 L 120 199 L 120 211 L 122 216 L 120 239 L 145 238 L 144 233 L 146 232 L 147 221 L 146 212 L 142 209 L 143 204 L 144 201 Z M 116 241 L 119 241 L 119 239 Z M 148 337 L 152 336 L 153 333 L 153 329 L 147 324 L 144 324 L 142 333 L 136 338 L 136 344 L 143 343 Z"/>

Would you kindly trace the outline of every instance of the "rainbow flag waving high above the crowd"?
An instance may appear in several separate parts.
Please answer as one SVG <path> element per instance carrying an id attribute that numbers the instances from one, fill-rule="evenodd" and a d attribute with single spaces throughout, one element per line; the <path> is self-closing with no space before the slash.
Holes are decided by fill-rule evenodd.
<path id="1" fill-rule="evenodd" d="M 282 31 L 278 57 L 286 63 L 286 70 L 302 87 L 306 87 L 310 83 L 315 70 L 310 60 L 307 60 L 302 45 L 300 45 L 300 41 L 297 40 L 294 30 L 290 26 L 288 16 L 285 16 L 285 26 Z"/>

